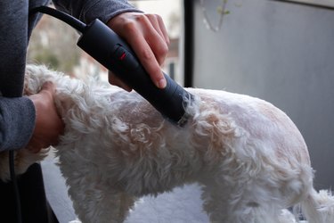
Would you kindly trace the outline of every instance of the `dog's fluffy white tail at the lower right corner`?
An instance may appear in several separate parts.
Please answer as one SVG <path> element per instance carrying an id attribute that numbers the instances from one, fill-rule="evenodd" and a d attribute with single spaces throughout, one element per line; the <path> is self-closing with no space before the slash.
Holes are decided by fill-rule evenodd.
<path id="1" fill-rule="evenodd" d="M 334 222 L 334 196 L 327 190 L 318 193 L 311 189 L 301 202 L 301 212 L 308 223 Z"/>

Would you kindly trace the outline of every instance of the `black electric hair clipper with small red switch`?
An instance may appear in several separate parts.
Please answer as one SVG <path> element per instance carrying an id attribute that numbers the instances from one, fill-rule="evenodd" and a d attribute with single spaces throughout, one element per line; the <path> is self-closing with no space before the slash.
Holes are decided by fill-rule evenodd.
<path id="1" fill-rule="evenodd" d="M 167 87 L 156 87 L 132 49 L 102 21 L 94 20 L 88 24 L 77 45 L 111 70 L 127 86 L 133 87 L 165 118 L 179 126 L 185 124 L 185 109 L 191 103 L 192 95 L 165 73 Z"/>

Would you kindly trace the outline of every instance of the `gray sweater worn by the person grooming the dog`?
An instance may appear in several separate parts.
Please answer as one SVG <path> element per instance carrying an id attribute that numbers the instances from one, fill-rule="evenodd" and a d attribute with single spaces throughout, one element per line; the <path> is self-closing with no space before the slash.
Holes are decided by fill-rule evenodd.
<path id="1" fill-rule="evenodd" d="M 35 128 L 35 107 L 22 96 L 27 46 L 38 14 L 29 9 L 48 0 L 0 1 L 0 152 L 23 148 Z M 89 22 L 106 22 L 121 12 L 139 12 L 126 0 L 54 0 L 60 10 Z"/>

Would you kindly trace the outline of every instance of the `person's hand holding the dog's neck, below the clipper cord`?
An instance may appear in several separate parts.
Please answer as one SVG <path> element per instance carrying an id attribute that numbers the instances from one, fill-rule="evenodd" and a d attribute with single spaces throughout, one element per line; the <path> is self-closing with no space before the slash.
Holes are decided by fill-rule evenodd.
<path id="1" fill-rule="evenodd" d="M 29 96 L 35 105 L 36 123 L 33 136 L 26 148 L 33 153 L 38 153 L 50 145 L 57 145 L 59 136 L 64 131 L 64 123 L 57 113 L 53 95 L 53 83 L 45 82 L 38 94 Z"/>

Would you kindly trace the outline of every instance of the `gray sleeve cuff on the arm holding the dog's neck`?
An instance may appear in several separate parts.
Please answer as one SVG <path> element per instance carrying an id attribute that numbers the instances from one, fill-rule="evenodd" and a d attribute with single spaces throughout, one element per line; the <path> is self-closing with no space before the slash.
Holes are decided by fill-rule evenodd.
<path id="1" fill-rule="evenodd" d="M 35 107 L 28 97 L 0 96 L 0 152 L 23 148 L 35 128 Z"/>

